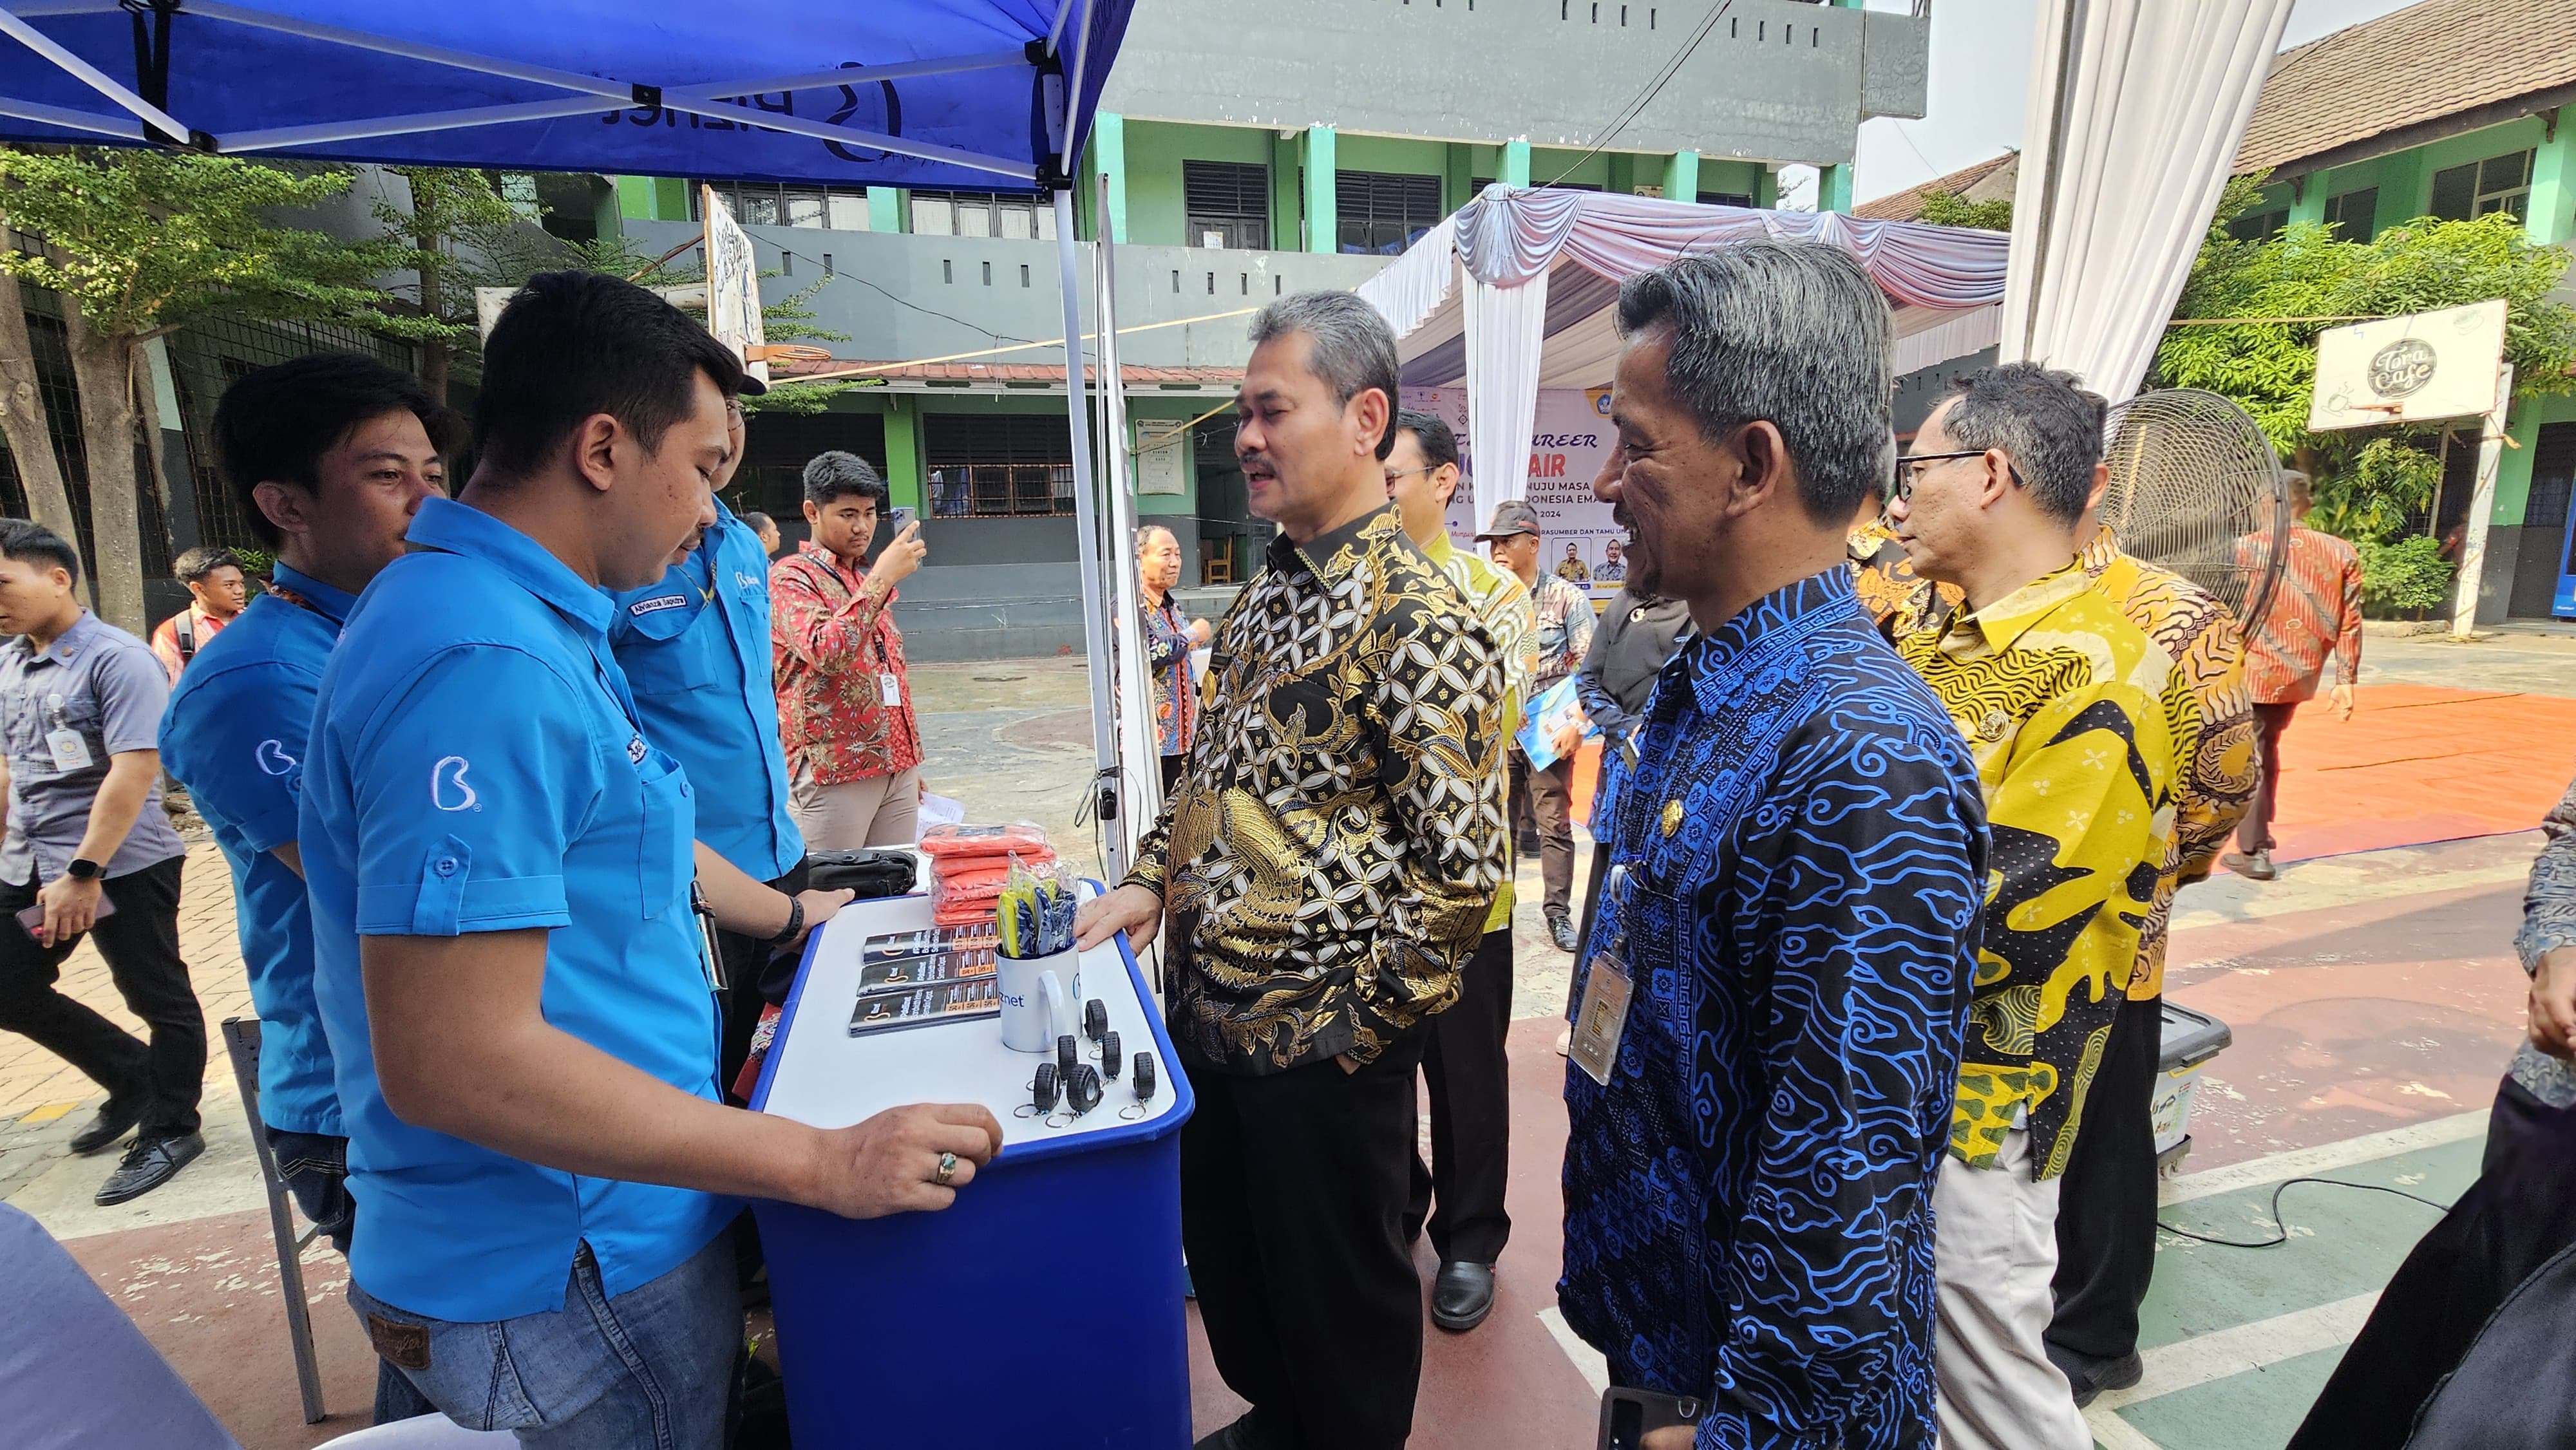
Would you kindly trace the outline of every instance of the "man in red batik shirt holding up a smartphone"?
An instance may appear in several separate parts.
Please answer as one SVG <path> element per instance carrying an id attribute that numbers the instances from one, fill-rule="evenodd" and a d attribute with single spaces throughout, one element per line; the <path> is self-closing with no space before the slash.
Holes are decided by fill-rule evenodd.
<path id="1" fill-rule="evenodd" d="M 817 453 L 804 484 L 811 538 L 770 567 L 778 742 L 796 824 L 814 850 L 912 845 L 922 726 L 904 677 L 904 634 L 894 628 L 894 587 L 930 549 L 907 518 L 868 561 L 886 479 L 858 453 Z"/>

